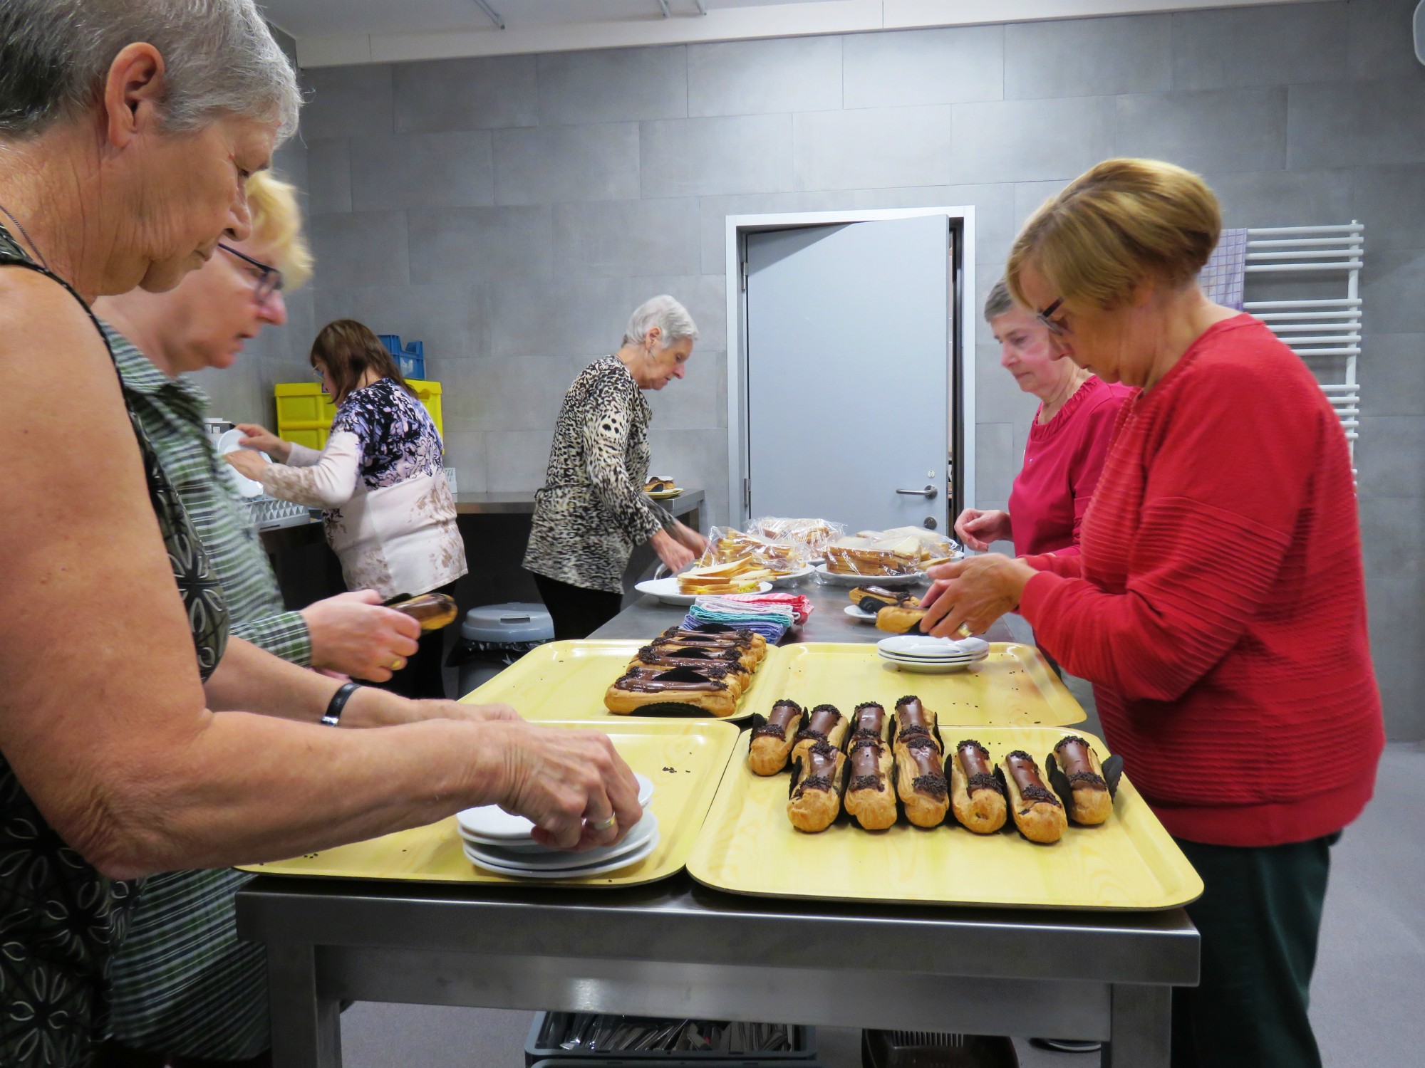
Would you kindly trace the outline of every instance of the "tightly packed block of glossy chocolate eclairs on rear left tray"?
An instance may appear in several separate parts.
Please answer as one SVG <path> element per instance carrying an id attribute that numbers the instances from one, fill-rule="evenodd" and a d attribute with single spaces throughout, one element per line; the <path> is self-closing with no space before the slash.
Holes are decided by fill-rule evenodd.
<path id="1" fill-rule="evenodd" d="M 670 627 L 634 654 L 604 692 L 604 706 L 627 715 L 650 705 L 693 705 L 730 716 L 764 656 L 767 639 L 752 631 Z"/>

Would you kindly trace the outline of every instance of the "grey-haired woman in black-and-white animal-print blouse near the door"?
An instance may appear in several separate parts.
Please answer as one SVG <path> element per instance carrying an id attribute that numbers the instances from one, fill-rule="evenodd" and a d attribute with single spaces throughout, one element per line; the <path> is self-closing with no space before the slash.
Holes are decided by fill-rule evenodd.
<path id="1" fill-rule="evenodd" d="M 681 379 L 697 339 L 688 310 L 656 296 L 628 318 L 623 347 L 564 394 L 524 554 L 559 639 L 587 638 L 618 614 L 636 545 L 647 541 L 670 571 L 707 548 L 643 491 L 653 422 L 643 392 Z"/>

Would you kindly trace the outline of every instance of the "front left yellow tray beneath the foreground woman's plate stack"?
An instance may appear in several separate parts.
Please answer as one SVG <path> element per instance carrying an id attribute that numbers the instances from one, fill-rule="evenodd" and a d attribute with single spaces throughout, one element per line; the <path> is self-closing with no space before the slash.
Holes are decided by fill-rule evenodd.
<path id="1" fill-rule="evenodd" d="M 550 726 L 589 728 L 587 722 Z M 333 879 L 386 879 L 419 883 L 494 883 L 532 886 L 638 886 L 683 870 L 728 755 L 740 732 L 707 719 L 633 719 L 600 723 L 636 772 L 653 779 L 648 807 L 658 816 L 658 846 L 637 864 L 586 879 L 524 880 L 476 867 L 460 852 L 455 816 L 369 842 L 326 849 L 294 860 L 252 864 L 244 871 Z"/>

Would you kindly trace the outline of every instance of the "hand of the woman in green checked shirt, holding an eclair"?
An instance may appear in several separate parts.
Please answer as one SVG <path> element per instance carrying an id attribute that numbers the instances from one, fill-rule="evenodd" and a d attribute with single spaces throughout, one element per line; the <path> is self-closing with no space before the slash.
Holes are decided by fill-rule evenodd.
<path id="1" fill-rule="evenodd" d="M 312 639 L 314 668 L 385 682 L 416 655 L 420 624 L 382 607 L 375 590 L 328 597 L 299 614 Z"/>

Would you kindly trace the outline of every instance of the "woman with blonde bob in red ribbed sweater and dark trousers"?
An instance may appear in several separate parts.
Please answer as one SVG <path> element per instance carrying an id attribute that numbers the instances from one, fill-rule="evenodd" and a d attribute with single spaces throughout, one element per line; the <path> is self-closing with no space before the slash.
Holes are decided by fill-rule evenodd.
<path id="1" fill-rule="evenodd" d="M 1371 797 L 1381 702 L 1345 436 L 1290 349 L 1198 290 L 1218 232 L 1201 179 L 1150 159 L 1099 164 L 1025 225 L 1016 299 L 1064 356 L 1141 393 L 1082 555 L 939 568 L 926 628 L 1017 607 L 1094 684 L 1109 745 L 1206 884 L 1174 1068 L 1312 1068 L 1330 846 Z"/>

